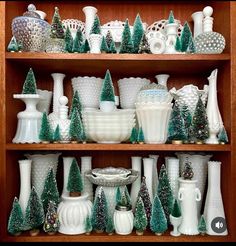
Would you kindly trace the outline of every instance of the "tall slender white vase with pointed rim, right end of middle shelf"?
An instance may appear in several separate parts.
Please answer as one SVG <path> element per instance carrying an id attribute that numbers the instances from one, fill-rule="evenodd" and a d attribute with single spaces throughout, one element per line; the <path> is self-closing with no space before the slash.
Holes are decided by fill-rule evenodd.
<path id="1" fill-rule="evenodd" d="M 217 134 L 219 130 L 223 127 L 223 122 L 221 114 L 218 107 L 217 100 L 217 73 L 218 69 L 212 71 L 211 75 L 208 77 L 209 81 L 209 93 L 208 101 L 206 107 L 206 113 L 209 123 L 209 133 L 210 137 L 206 139 L 206 144 L 218 144 Z"/>

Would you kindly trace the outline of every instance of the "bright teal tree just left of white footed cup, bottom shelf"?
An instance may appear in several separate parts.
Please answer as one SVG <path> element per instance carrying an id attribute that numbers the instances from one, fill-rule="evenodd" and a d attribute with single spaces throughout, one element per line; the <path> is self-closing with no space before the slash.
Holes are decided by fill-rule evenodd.
<path id="1" fill-rule="evenodd" d="M 155 196 L 152 204 L 152 214 L 150 221 L 150 229 L 155 234 L 160 235 L 167 230 L 167 220 L 158 195 Z"/>

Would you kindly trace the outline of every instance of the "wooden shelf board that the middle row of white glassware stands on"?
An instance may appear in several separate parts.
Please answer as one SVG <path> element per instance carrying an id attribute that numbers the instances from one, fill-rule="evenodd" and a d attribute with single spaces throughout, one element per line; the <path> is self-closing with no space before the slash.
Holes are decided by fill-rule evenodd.
<path id="1" fill-rule="evenodd" d="M 7 150 L 230 151 L 230 144 L 6 144 Z"/>

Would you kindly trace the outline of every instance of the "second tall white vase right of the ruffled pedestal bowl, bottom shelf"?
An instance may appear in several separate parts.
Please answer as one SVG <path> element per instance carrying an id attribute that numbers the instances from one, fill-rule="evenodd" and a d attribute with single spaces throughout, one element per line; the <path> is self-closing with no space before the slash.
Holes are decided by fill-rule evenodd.
<path id="1" fill-rule="evenodd" d="M 150 196 L 150 201 L 153 201 L 153 170 L 154 159 L 143 158 L 143 175 L 146 177 L 146 185 Z"/>

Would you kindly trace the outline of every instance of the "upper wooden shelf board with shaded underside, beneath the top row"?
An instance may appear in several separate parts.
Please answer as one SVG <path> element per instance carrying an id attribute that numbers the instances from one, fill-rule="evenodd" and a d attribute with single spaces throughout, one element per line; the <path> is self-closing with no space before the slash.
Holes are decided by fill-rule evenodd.
<path id="1" fill-rule="evenodd" d="M 28 70 L 29 67 L 40 72 L 72 73 L 74 76 L 104 76 L 110 69 L 122 76 L 142 76 L 144 74 L 209 73 L 209 71 L 231 59 L 225 54 L 69 54 L 69 53 L 34 53 L 6 52 L 6 60 L 17 63 Z"/>

